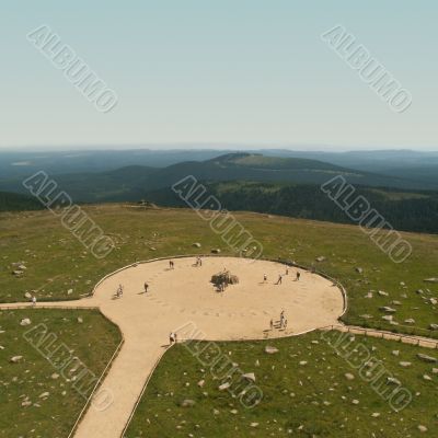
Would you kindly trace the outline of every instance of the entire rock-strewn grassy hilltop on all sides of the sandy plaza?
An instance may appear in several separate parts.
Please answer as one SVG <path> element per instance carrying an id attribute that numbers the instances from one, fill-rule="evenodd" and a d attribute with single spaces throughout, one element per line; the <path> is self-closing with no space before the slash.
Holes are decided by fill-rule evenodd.
<path id="1" fill-rule="evenodd" d="M 209 223 L 188 209 L 128 205 L 84 209 L 115 241 L 115 250 L 103 260 L 90 254 L 48 211 L 0 214 L 0 301 L 23 301 L 26 292 L 35 293 L 39 302 L 77 299 L 90 293 L 104 275 L 140 260 L 210 253 L 214 247 L 234 255 Z M 438 285 L 424 279 L 438 276 L 438 237 L 404 233 L 414 251 L 407 262 L 394 264 L 356 227 L 246 212 L 234 216 L 263 243 L 264 257 L 314 264 L 342 281 L 349 298 L 346 323 L 433 334 L 426 330 L 438 323 L 437 306 L 430 301 L 438 297 Z M 194 247 L 195 242 L 201 247 Z M 325 260 L 315 262 L 319 256 Z M 26 267 L 21 276 L 12 274 L 16 263 Z M 418 289 L 423 293 L 417 293 Z M 379 295 L 379 290 L 388 295 Z M 370 291 L 372 298 L 367 298 Z M 382 320 L 380 308 L 384 306 L 396 310 L 394 320 L 400 325 Z M 0 331 L 4 331 L 0 333 L 4 347 L 0 349 L 0 437 L 66 437 L 84 400 L 70 382 L 51 378 L 56 372 L 53 366 L 22 336 L 28 328 L 20 325 L 23 318 L 31 318 L 32 325 L 47 324 L 96 374 L 118 345 L 119 333 L 97 312 L 39 309 L 0 313 Z M 415 323 L 407 325 L 406 319 Z M 416 359 L 418 348 L 361 339 L 415 394 L 413 403 L 395 414 L 358 376 L 351 381 L 345 379 L 346 372 L 354 371 L 319 336 L 313 333 L 269 341 L 279 349 L 273 356 L 264 353 L 266 342 L 220 344 L 244 372 L 256 374 L 264 397 L 250 411 L 230 394 L 219 392 L 218 381 L 208 370 L 201 371 L 196 358 L 177 346 L 157 369 L 127 437 L 408 438 L 418 436 L 418 425 L 428 428 L 428 436 L 438 436 L 438 377 L 431 365 Z M 393 349 L 400 349 L 400 356 L 394 356 Z M 11 364 L 15 355 L 23 359 Z M 302 360 L 307 364 L 301 366 Z M 401 360 L 412 366 L 401 368 Z M 433 380 L 424 380 L 425 373 Z M 201 390 L 197 385 L 200 379 L 206 381 Z M 45 392 L 49 395 L 41 397 Z M 181 407 L 185 399 L 194 400 L 195 406 Z M 359 404 L 353 404 L 353 400 Z M 22 406 L 23 402 L 32 404 Z M 374 412 L 380 416 L 372 417 Z"/>

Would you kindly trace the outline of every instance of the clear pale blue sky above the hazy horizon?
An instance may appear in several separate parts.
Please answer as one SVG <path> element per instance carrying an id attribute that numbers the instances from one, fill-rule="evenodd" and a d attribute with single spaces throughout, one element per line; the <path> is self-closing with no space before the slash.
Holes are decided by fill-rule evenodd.
<path id="1" fill-rule="evenodd" d="M 0 148 L 438 150 L 437 22 L 428 0 L 3 2 Z M 43 25 L 111 111 L 27 37 Z M 337 25 L 412 95 L 404 112 L 321 37 Z"/>

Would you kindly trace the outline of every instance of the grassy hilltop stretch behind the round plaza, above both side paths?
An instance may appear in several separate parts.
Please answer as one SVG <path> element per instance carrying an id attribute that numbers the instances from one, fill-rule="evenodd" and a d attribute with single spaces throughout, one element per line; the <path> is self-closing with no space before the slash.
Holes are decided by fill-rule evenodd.
<path id="1" fill-rule="evenodd" d="M 32 290 L 41 301 L 76 299 L 107 273 L 137 260 L 209 253 L 212 247 L 233 254 L 209 223 L 188 209 L 101 205 L 85 211 L 116 243 L 104 260 L 94 258 L 48 211 L 0 215 L 1 302 L 23 301 Z M 234 216 L 263 243 L 263 256 L 313 263 L 341 280 L 349 298 L 345 322 L 434 335 L 427 328 L 438 324 L 438 306 L 430 301 L 438 299 L 438 284 L 424 279 L 438 277 L 437 235 L 403 233 L 414 251 L 405 263 L 395 264 L 357 227 L 258 214 Z M 201 247 L 193 247 L 194 242 Z M 315 263 L 321 255 L 325 261 Z M 12 263 L 18 262 L 25 262 L 27 268 L 20 278 L 12 275 Z M 366 298 L 370 291 L 372 298 Z M 381 307 L 396 310 L 399 325 L 382 320 Z M 411 319 L 415 322 L 404 322 Z"/>

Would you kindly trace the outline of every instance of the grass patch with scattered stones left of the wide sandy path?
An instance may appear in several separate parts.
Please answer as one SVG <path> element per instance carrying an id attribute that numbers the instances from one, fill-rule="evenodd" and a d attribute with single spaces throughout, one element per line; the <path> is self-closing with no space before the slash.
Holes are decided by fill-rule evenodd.
<path id="1" fill-rule="evenodd" d="M 23 319 L 30 319 L 31 324 L 22 326 Z M 77 362 L 62 372 L 55 360 L 53 365 L 46 358 L 48 354 L 44 357 L 24 336 L 38 324 L 56 335 L 54 347 L 64 343 L 96 376 L 101 376 L 120 342 L 118 328 L 97 311 L 1 311 L 1 438 L 66 438 L 87 402 L 73 387 Z M 11 362 L 16 356 L 22 358 Z"/>

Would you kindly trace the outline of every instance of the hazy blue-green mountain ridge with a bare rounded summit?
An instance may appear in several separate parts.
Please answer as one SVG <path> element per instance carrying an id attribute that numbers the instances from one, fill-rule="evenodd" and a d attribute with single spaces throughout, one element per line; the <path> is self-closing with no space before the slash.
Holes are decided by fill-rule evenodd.
<path id="1" fill-rule="evenodd" d="M 198 181 L 246 181 L 321 185 L 335 175 L 361 186 L 428 188 L 399 176 L 357 171 L 307 158 L 267 157 L 261 153 L 227 153 L 205 161 L 184 161 L 166 168 L 129 165 L 97 173 L 50 175 L 77 201 L 137 200 L 151 191 L 170 187 L 193 175 Z M 21 182 L 0 181 L 0 189 L 25 193 Z"/>

